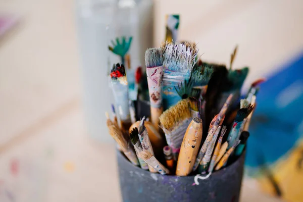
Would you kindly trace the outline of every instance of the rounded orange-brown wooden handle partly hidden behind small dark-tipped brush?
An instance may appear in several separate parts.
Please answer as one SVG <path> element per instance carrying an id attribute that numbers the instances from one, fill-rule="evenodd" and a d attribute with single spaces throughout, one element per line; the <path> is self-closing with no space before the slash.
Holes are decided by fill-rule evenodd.
<path id="1" fill-rule="evenodd" d="M 131 125 L 129 128 L 129 133 L 135 128 L 139 128 L 140 121 L 136 121 L 134 124 Z M 144 120 L 144 126 L 147 130 L 147 134 L 151 143 L 151 146 L 153 147 L 153 150 L 155 152 L 156 157 L 158 155 L 162 155 L 162 149 L 163 146 L 165 145 L 165 139 L 162 137 L 162 135 L 156 130 L 154 125 L 149 122 Z"/>

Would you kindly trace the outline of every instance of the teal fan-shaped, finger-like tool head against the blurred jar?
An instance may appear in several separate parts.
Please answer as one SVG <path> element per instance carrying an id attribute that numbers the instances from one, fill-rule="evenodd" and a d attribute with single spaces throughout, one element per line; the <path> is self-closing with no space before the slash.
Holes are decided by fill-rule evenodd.
<path id="1" fill-rule="evenodd" d="M 124 60 L 125 60 L 125 55 L 127 54 L 129 48 L 130 48 L 130 44 L 132 41 L 132 37 L 129 37 L 128 41 L 126 40 L 126 37 L 123 36 L 122 39 L 119 39 L 118 37 L 116 38 L 116 43 L 114 42 L 114 40 L 112 40 L 112 45 L 113 46 L 108 46 L 109 50 L 120 56 L 121 58 L 121 63 L 124 64 Z"/>

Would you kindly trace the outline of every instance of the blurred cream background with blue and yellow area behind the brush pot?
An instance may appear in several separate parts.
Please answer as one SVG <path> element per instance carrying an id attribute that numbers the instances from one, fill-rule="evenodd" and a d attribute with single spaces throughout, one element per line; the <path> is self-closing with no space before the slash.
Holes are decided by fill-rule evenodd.
<path id="1" fill-rule="evenodd" d="M 113 99 L 107 72 L 117 60 L 107 45 L 116 36 L 132 35 L 131 64 L 144 67 L 145 49 L 165 38 L 167 14 L 180 15 L 178 38 L 195 41 L 202 60 L 228 64 L 239 45 L 234 67 L 250 67 L 243 92 L 257 78 L 268 78 L 256 116 L 296 100 L 273 116 L 295 111 L 296 117 L 256 123 L 250 148 L 261 145 L 267 154 L 268 145 L 276 145 L 270 147 L 276 156 L 266 157 L 273 172 L 285 163 L 279 159 L 295 158 L 298 169 L 291 179 L 302 183 L 303 111 L 297 101 L 303 92 L 302 8 L 299 0 L 0 0 L 0 201 L 121 201 L 104 116 Z M 275 136 L 254 139 L 262 127 L 273 127 Z M 280 138 L 281 133 L 288 136 Z M 247 156 L 247 173 L 258 167 L 253 156 Z M 299 201 L 291 195 L 302 184 L 294 183 L 296 192 L 288 188 L 293 181 L 283 180 L 294 172 L 282 170 L 286 174 L 277 180 L 284 197 L 260 186 L 266 180 L 254 174 L 245 177 L 241 201 Z"/>

